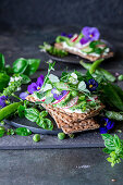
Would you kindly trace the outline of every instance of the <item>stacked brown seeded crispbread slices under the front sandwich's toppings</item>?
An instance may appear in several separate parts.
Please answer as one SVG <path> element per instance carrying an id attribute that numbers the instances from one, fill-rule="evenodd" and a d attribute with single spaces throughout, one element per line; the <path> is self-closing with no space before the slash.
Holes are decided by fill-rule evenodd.
<path id="1" fill-rule="evenodd" d="M 26 99 L 32 102 L 38 101 L 32 96 L 26 97 Z M 41 103 L 41 106 L 53 118 L 58 128 L 62 128 L 65 134 L 98 128 L 99 124 L 94 116 L 99 114 L 100 110 L 104 108 L 104 106 L 101 104 L 99 109 L 93 109 L 87 113 L 70 113 L 61 108 L 54 108 L 52 104 Z"/>

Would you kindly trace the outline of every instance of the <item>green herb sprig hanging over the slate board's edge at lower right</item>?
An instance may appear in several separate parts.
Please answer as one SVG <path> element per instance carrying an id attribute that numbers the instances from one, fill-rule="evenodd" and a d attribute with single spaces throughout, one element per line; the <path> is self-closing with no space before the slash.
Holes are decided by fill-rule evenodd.
<path id="1" fill-rule="evenodd" d="M 101 136 L 106 146 L 103 151 L 109 155 L 107 160 L 111 162 L 111 166 L 114 166 L 115 163 L 120 163 L 121 159 L 123 159 L 123 139 L 120 139 L 115 134 L 114 136 L 101 134 Z"/>

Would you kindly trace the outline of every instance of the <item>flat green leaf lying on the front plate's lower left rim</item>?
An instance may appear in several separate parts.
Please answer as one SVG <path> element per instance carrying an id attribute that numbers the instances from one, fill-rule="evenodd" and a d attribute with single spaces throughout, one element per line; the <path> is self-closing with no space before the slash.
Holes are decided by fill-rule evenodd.
<path id="1" fill-rule="evenodd" d="M 15 130 L 16 135 L 20 136 L 29 136 L 32 134 L 32 131 L 29 131 L 26 127 L 19 127 Z"/>

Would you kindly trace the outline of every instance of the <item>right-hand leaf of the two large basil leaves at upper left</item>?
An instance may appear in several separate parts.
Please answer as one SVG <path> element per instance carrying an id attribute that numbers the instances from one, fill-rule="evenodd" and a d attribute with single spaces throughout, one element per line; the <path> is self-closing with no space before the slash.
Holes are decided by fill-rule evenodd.
<path id="1" fill-rule="evenodd" d="M 40 59 L 28 59 L 27 63 L 28 63 L 28 65 L 25 70 L 24 74 L 26 74 L 27 76 L 30 76 L 37 71 L 37 69 L 40 64 Z"/>

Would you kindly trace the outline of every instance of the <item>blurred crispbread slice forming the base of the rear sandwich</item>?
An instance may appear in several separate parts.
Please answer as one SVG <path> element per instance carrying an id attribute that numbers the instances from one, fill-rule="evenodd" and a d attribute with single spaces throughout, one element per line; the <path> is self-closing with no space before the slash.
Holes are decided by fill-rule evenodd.
<path id="1" fill-rule="evenodd" d="M 101 54 L 101 55 L 99 55 L 99 57 L 95 57 L 95 55 L 90 55 L 90 54 L 84 55 L 82 52 L 77 52 L 77 51 L 74 51 L 74 50 L 71 50 L 71 49 L 67 49 L 67 48 L 63 48 L 62 42 L 60 42 L 60 44 L 54 44 L 54 47 L 56 47 L 57 49 L 62 49 L 62 50 L 64 50 L 64 51 L 67 51 L 67 52 L 70 52 L 70 53 L 72 53 L 72 54 L 79 55 L 79 57 L 82 57 L 82 58 L 84 58 L 84 59 L 88 59 L 88 60 L 91 61 L 91 62 L 94 62 L 94 61 L 96 61 L 96 60 L 98 60 L 98 59 L 108 59 L 108 58 L 111 58 L 111 57 L 114 55 L 114 53 L 113 53 L 112 51 L 108 52 L 107 55 L 104 55 L 104 54 Z"/>

